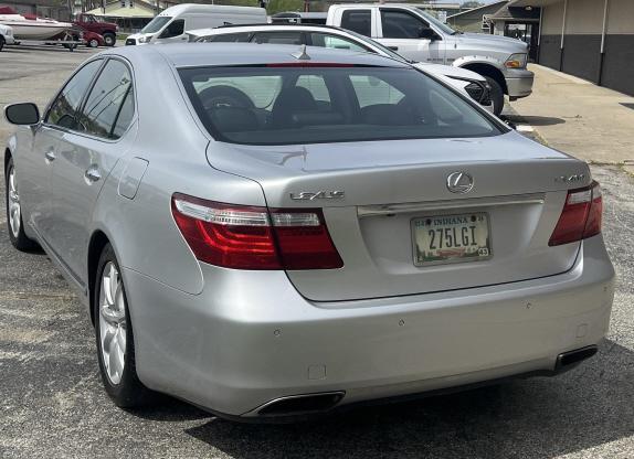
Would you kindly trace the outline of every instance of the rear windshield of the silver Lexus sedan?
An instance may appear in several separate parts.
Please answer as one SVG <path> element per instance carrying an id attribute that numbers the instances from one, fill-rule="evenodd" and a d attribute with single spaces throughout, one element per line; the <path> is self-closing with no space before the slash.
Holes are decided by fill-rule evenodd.
<path id="1" fill-rule="evenodd" d="M 218 140 L 294 145 L 485 137 L 501 128 L 414 68 L 198 67 L 180 75 Z"/>

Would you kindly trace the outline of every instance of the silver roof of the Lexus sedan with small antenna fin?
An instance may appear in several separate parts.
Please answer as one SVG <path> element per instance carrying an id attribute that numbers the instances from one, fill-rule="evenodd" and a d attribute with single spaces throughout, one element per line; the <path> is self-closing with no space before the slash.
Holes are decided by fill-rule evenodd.
<path id="1" fill-rule="evenodd" d="M 287 44 L 256 43 L 183 43 L 145 46 L 124 46 L 102 54 L 120 55 L 129 61 L 144 60 L 147 54 L 160 54 L 172 66 L 230 66 L 266 65 L 284 63 L 306 64 L 347 64 L 381 67 L 411 67 L 409 64 L 378 54 L 308 46 L 305 49 L 309 60 L 299 60 L 304 46 Z"/>

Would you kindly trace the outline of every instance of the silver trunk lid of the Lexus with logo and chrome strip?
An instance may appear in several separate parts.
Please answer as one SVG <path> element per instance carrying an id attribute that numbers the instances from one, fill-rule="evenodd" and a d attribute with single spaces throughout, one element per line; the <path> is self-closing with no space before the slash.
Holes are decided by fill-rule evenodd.
<path id="1" fill-rule="evenodd" d="M 549 247 L 548 241 L 567 190 L 591 180 L 583 162 L 515 132 L 283 147 L 215 142 L 208 158 L 218 169 L 257 181 L 272 209 L 323 209 L 344 267 L 287 271 L 297 290 L 315 301 L 453 290 L 566 271 L 579 243 Z M 473 188 L 450 191 L 452 173 L 468 174 Z M 483 218 L 477 231 L 484 233 L 475 239 L 488 238 L 478 241 L 484 245 L 477 249 L 489 253 L 472 263 L 473 257 L 434 259 L 438 250 L 427 250 L 423 261 L 416 258 L 430 248 L 416 252 L 430 244 L 429 235 L 420 235 L 425 222 L 440 222 L 437 228 L 454 239 L 465 218 Z M 450 256 L 458 249 L 446 245 L 436 248 Z"/>

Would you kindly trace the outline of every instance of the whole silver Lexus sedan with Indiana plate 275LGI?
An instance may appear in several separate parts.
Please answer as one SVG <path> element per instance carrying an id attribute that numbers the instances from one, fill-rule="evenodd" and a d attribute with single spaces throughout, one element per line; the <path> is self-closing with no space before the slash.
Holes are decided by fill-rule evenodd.
<path id="1" fill-rule="evenodd" d="M 293 418 L 553 375 L 607 330 L 588 166 L 406 63 L 128 46 L 6 116 L 11 242 L 76 288 L 121 407 Z"/>

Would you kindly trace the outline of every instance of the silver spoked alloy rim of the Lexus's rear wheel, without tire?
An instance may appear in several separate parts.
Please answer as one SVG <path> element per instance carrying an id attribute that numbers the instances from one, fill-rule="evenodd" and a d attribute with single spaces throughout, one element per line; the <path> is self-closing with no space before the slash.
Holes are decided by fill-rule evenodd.
<path id="1" fill-rule="evenodd" d="M 126 356 L 126 299 L 120 274 L 113 261 L 104 266 L 99 291 L 99 340 L 106 375 L 113 385 L 121 381 Z"/>

